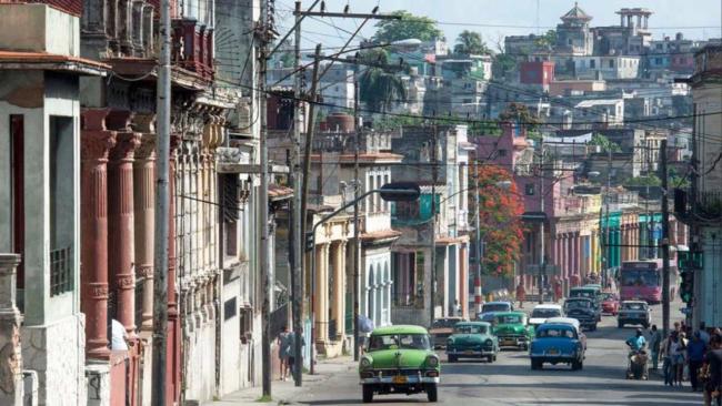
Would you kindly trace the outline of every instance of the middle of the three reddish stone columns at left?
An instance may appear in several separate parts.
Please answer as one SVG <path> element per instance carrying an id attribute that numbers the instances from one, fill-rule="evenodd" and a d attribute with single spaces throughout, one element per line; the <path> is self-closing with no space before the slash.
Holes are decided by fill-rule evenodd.
<path id="1" fill-rule="evenodd" d="M 113 113 L 111 113 L 113 114 Z M 121 115 L 122 112 L 118 113 Z M 122 120 L 122 118 L 117 118 Z M 124 115 L 130 119 L 130 113 Z M 140 134 L 118 132 L 118 144 L 110 152 L 108 174 L 109 267 L 116 293 L 116 317 L 131 337 L 136 335 L 136 252 L 133 221 L 133 156 L 140 145 Z"/>

